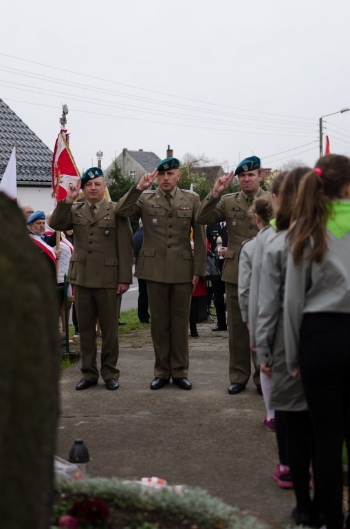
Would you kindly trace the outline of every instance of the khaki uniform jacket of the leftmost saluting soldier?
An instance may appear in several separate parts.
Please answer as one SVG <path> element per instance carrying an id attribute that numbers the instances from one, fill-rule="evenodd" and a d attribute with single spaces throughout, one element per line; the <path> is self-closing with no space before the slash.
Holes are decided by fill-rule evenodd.
<path id="1" fill-rule="evenodd" d="M 68 281 L 87 288 L 114 288 L 132 282 L 133 242 L 129 219 L 118 218 L 115 203 L 103 200 L 93 217 L 87 203 L 59 202 L 50 226 L 74 230 Z"/>

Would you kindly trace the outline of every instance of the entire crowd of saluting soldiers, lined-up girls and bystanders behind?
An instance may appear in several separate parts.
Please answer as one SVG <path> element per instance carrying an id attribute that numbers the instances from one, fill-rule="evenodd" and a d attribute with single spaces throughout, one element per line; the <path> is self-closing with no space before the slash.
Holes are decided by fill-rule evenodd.
<path id="1" fill-rule="evenodd" d="M 261 161 L 250 156 L 202 202 L 178 187 L 179 178 L 179 160 L 166 158 L 113 203 L 101 169 L 87 169 L 50 216 L 50 229 L 61 233 L 58 253 L 43 211 L 23 207 L 50 266 L 65 255 L 80 333 L 76 390 L 99 376 L 107 389 L 119 387 L 118 314 L 132 282 L 133 240 L 139 318 L 151 324 L 155 353 L 150 388 L 172 382 L 190 390 L 188 323 L 195 337 L 196 292 L 205 287 L 208 252 L 217 251 L 212 331 L 228 329 L 228 393 L 241 393 L 252 375 L 263 395 L 263 424 L 278 448 L 273 477 L 294 489 L 294 522 L 350 529 L 342 510 L 344 442 L 350 451 L 350 159 L 328 154 L 313 169 L 279 174 L 264 191 Z M 226 193 L 233 178 L 240 191 Z M 80 187 L 85 201 L 77 203 Z M 133 237 L 134 214 L 140 229 Z"/>

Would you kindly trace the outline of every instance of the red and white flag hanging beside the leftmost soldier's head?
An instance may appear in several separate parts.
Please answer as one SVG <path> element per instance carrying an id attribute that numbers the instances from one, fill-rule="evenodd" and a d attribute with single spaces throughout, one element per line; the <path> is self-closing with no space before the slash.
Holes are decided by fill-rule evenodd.
<path id="1" fill-rule="evenodd" d="M 69 183 L 75 182 L 76 178 L 80 178 L 80 174 L 69 149 L 67 130 L 61 129 L 52 158 L 52 196 L 55 203 L 66 198 Z"/>

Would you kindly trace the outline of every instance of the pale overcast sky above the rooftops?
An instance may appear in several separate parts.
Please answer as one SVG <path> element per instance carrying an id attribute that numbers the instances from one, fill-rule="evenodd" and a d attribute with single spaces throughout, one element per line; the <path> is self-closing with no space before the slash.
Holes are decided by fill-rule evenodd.
<path id="1" fill-rule="evenodd" d="M 14 0 L 1 19 L 0 97 L 50 149 L 67 103 L 80 170 L 168 145 L 314 165 L 320 116 L 350 107 L 348 0 Z M 350 112 L 324 125 L 349 155 Z"/>

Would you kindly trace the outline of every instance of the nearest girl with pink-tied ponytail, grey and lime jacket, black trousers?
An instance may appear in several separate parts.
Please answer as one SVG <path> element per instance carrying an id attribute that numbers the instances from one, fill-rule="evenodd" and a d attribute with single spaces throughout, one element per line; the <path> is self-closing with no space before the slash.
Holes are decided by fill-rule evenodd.
<path id="1" fill-rule="evenodd" d="M 344 440 L 350 454 L 350 158 L 320 158 L 300 184 L 294 212 L 285 278 L 287 367 L 301 377 L 309 408 L 325 528 L 342 529 Z"/>

